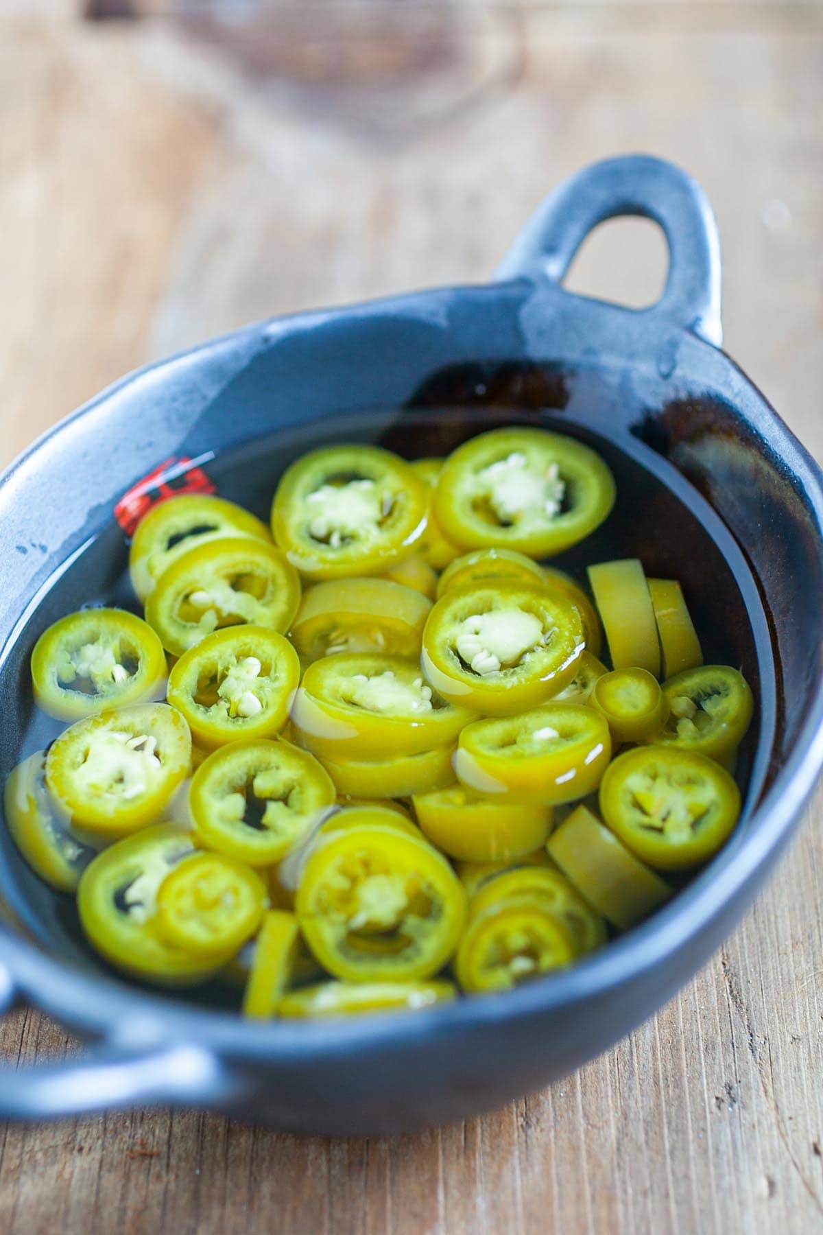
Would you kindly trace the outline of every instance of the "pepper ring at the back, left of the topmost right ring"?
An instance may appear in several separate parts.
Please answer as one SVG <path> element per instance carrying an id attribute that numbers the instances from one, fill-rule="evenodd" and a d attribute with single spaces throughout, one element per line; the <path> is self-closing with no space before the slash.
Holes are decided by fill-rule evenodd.
<path id="1" fill-rule="evenodd" d="M 378 574 L 426 530 L 426 485 L 378 446 L 325 446 L 289 467 L 271 505 L 274 538 L 310 579 Z"/>

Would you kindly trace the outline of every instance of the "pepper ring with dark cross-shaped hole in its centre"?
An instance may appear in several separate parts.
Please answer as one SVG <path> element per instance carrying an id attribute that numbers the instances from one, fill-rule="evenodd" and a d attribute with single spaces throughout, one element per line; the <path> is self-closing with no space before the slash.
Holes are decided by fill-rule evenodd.
<path id="1" fill-rule="evenodd" d="M 249 866 L 273 866 L 334 803 L 313 755 L 281 739 L 231 742 L 200 764 L 189 808 L 197 840 Z"/>

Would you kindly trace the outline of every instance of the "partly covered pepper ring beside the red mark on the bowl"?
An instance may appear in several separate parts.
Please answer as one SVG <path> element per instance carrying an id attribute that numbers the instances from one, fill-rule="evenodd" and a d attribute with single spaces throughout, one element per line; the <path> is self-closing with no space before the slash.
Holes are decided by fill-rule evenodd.
<path id="1" fill-rule="evenodd" d="M 271 543 L 262 520 L 225 498 L 181 493 L 153 506 L 141 519 L 128 552 L 132 587 L 141 600 L 179 557 L 207 541 L 250 536 Z"/>

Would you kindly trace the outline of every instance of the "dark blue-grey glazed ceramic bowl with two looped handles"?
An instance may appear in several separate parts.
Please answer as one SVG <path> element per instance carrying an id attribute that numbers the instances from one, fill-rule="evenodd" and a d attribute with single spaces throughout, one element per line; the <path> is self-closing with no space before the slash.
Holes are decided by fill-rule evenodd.
<path id="1" fill-rule="evenodd" d="M 643 311 L 560 288 L 587 232 L 622 214 L 656 220 L 669 241 L 665 291 Z M 342 436 L 412 457 L 505 421 L 595 442 L 621 496 L 587 555 L 639 553 L 650 572 L 676 573 L 709 651 L 743 667 L 760 706 L 742 823 L 672 903 L 568 972 L 424 1014 L 247 1024 L 220 990 L 130 984 L 95 962 L 69 898 L 0 829 L 0 1002 L 31 1000 L 94 1044 L 79 1062 L 4 1073 L 0 1115 L 174 1102 L 294 1130 L 410 1130 L 569 1072 L 706 962 L 823 763 L 821 472 L 719 343 L 701 189 L 658 159 L 612 159 L 547 199 L 495 283 L 249 326 L 123 379 L 2 475 L 2 776 L 48 737 L 27 682 L 39 631 L 89 598 L 128 603 L 112 508 L 134 480 L 185 456 L 265 513 L 290 458 Z"/>

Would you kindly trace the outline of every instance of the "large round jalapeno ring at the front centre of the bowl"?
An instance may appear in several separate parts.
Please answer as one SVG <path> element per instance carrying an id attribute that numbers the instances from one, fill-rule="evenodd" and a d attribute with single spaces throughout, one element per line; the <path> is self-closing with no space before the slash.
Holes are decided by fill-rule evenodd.
<path id="1" fill-rule="evenodd" d="M 329 832 L 300 879 L 297 920 L 320 963 L 352 982 L 412 981 L 453 955 L 466 898 L 448 861 L 396 827 Z"/>

